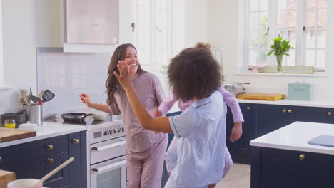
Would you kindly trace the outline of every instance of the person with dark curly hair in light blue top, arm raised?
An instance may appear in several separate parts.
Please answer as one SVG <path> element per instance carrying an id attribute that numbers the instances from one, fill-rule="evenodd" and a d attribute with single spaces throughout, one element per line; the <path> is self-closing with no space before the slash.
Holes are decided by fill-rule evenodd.
<path id="1" fill-rule="evenodd" d="M 173 133 L 177 164 L 165 187 L 206 187 L 220 181 L 226 145 L 226 105 L 217 88 L 220 66 L 203 48 L 187 48 L 172 59 L 168 78 L 177 100 L 194 102 L 180 115 L 153 118 L 143 107 L 124 62 L 114 72 L 143 128 Z M 168 161 L 166 161 L 168 163 Z"/>

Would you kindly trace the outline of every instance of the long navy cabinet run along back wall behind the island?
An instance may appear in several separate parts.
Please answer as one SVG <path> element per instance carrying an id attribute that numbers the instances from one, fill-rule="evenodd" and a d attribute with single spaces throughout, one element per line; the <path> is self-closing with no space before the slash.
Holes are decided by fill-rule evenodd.
<path id="1" fill-rule="evenodd" d="M 228 108 L 226 115 L 226 145 L 233 162 L 251 164 L 249 142 L 256 137 L 278 130 L 295 121 L 334 123 L 333 108 L 317 108 L 290 105 L 263 105 L 239 103 L 243 113 L 243 136 L 236 142 L 230 142 L 233 116 Z"/>

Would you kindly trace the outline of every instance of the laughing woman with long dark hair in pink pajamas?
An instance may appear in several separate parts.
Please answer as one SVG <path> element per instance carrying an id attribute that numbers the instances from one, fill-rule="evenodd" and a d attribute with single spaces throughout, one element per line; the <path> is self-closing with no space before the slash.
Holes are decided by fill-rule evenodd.
<path id="1" fill-rule="evenodd" d="M 81 101 L 88 107 L 113 115 L 122 115 L 126 132 L 126 164 L 128 188 L 161 187 L 163 160 L 166 154 L 168 135 L 155 134 L 143 129 L 133 114 L 126 93 L 113 72 L 119 73 L 117 64 L 123 61 L 128 66 L 133 87 L 143 106 L 153 116 L 153 111 L 163 102 L 164 93 L 156 75 L 143 71 L 138 62 L 136 48 L 132 44 L 122 44 L 113 52 L 106 80 L 107 104 L 91 103 L 88 95 L 82 93 Z"/>

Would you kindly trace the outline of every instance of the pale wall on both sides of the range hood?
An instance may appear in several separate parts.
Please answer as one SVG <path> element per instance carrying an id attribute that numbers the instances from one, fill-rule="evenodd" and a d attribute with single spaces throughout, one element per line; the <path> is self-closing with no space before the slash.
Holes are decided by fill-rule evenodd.
<path id="1" fill-rule="evenodd" d="M 62 0 L 1 0 L 4 85 L 0 113 L 21 108 L 21 89 L 36 87 L 36 47 L 61 47 Z M 131 42 L 131 0 L 120 1 L 120 43 Z M 111 52 L 112 53 L 112 52 Z"/>

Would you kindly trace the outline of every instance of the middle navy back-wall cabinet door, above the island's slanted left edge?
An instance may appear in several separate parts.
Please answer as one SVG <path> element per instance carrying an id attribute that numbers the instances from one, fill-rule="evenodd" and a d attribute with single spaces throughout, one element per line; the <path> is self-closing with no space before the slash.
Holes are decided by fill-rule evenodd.
<path id="1" fill-rule="evenodd" d="M 256 105 L 253 113 L 255 137 L 268 134 L 293 122 L 294 109 L 284 105 Z"/>

